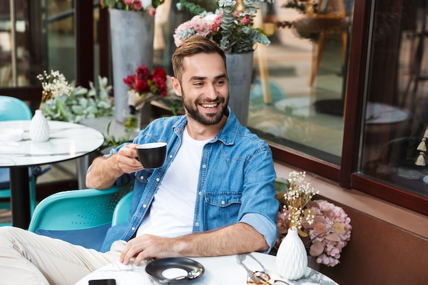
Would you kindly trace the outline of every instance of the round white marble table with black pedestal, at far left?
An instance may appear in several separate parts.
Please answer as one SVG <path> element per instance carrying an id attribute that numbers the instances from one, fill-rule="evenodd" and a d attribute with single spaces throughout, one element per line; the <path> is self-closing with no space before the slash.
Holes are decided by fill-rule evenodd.
<path id="1" fill-rule="evenodd" d="M 100 148 L 104 142 L 103 134 L 94 128 L 59 121 L 48 121 L 48 141 L 31 141 L 30 122 L 0 122 L 0 131 L 6 128 L 24 131 L 22 141 L 0 141 L 0 167 L 10 167 L 12 225 L 25 229 L 31 219 L 28 167 L 82 157 Z"/>

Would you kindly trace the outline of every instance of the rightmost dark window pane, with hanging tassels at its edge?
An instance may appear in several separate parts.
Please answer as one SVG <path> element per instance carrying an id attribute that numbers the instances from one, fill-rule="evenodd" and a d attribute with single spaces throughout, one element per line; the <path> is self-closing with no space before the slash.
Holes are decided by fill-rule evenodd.
<path id="1" fill-rule="evenodd" d="M 360 169 L 427 197 L 427 1 L 394 2 L 375 7 Z"/>

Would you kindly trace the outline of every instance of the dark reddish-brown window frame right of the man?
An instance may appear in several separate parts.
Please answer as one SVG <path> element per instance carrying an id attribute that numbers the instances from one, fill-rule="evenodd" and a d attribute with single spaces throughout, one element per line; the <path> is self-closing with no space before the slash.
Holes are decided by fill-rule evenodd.
<path id="1" fill-rule="evenodd" d="M 398 0 L 397 0 L 398 1 Z M 360 133 L 362 132 L 362 102 L 366 84 L 367 49 L 371 35 L 374 1 L 355 1 L 353 8 L 352 37 L 347 70 L 345 100 L 345 125 L 340 166 L 308 157 L 303 153 L 268 141 L 273 159 L 304 169 L 313 174 L 330 179 L 345 189 L 356 189 L 376 198 L 392 202 L 412 211 L 428 215 L 428 198 L 409 191 L 392 187 L 358 173 L 358 154 L 360 152 Z M 357 106 L 357 107 L 356 107 Z"/>

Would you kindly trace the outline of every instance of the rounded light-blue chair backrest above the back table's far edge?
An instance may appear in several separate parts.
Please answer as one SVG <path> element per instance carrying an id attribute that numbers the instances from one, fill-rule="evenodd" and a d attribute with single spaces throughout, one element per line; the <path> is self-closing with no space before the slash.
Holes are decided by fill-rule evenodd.
<path id="1" fill-rule="evenodd" d="M 21 99 L 0 95 L 0 121 L 31 120 L 33 115 Z"/>

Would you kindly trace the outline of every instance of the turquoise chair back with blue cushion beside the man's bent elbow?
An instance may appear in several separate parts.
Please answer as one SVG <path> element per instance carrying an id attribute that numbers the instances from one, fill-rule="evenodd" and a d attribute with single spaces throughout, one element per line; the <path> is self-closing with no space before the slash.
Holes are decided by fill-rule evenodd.
<path id="1" fill-rule="evenodd" d="M 49 195 L 36 206 L 28 230 L 100 250 L 116 204 L 132 189 L 133 182 L 129 182 L 106 190 L 82 189 Z"/>

